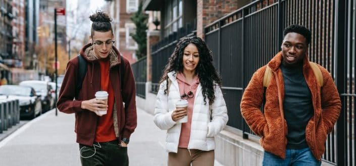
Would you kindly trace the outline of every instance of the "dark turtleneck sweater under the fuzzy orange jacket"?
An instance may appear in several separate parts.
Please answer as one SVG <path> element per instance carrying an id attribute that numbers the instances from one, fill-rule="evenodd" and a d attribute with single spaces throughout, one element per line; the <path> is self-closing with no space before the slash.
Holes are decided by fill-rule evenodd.
<path id="1" fill-rule="evenodd" d="M 284 119 L 288 125 L 287 149 L 307 148 L 306 127 L 314 114 L 312 93 L 304 79 L 302 65 L 281 64 L 284 81 Z"/>

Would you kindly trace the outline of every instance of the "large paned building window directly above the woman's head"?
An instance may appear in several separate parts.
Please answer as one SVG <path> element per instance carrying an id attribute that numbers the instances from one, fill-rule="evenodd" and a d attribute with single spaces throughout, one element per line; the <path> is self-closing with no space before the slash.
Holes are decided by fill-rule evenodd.
<path id="1" fill-rule="evenodd" d="M 179 28 L 183 27 L 182 23 L 182 0 L 171 0 L 171 3 L 166 3 L 165 11 L 165 36 L 173 32 L 177 32 Z"/>

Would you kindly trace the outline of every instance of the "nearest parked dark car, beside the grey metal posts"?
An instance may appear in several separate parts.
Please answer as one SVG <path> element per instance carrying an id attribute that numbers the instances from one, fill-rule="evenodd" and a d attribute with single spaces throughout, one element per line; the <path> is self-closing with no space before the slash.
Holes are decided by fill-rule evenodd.
<path id="1" fill-rule="evenodd" d="M 18 99 L 20 105 L 20 117 L 35 118 L 42 114 L 42 104 L 40 95 L 36 95 L 32 87 L 20 85 L 0 86 L 0 100 Z"/>

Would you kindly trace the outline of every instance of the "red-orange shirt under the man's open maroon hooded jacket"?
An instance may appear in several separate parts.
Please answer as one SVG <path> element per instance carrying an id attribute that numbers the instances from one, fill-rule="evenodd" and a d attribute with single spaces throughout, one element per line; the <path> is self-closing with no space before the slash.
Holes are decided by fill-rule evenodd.
<path id="1" fill-rule="evenodd" d="M 108 96 L 108 113 L 104 116 L 99 117 L 95 141 L 97 142 L 108 142 L 116 139 L 114 131 L 114 122 L 113 122 L 113 108 L 114 108 L 114 89 L 111 85 L 109 79 L 110 71 L 110 61 L 109 58 L 100 60 L 100 88 L 101 90 L 107 91 Z"/>

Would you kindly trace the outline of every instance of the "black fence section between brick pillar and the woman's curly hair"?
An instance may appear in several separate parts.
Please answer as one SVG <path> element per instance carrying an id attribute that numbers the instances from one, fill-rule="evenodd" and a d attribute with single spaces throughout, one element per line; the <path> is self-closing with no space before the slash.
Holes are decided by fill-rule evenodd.
<path id="1" fill-rule="evenodd" d="M 195 35 L 195 29 L 195 26 L 187 24 L 185 27 L 180 28 L 178 32 L 172 33 L 152 46 L 152 84 L 150 92 L 157 93 L 162 71 L 168 63 L 168 59 L 171 57 L 178 40 L 185 36 Z"/>

